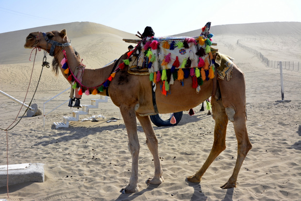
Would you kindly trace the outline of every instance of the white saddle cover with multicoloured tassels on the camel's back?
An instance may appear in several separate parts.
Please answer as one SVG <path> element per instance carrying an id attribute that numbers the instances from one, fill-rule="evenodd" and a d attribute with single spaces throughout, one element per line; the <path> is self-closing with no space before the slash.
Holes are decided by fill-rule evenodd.
<path id="1" fill-rule="evenodd" d="M 213 34 L 202 28 L 197 37 L 145 37 L 125 60 L 131 74 L 149 75 L 153 83 L 163 82 L 162 93 L 167 95 L 175 80 L 192 79 L 197 93 L 203 81 L 215 75 L 215 49 L 211 48 Z"/>

